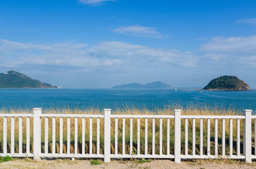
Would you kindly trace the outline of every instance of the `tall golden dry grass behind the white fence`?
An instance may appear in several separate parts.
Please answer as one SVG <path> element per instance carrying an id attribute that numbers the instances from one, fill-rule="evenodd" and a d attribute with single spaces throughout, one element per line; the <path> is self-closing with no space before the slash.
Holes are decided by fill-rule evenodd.
<path id="1" fill-rule="evenodd" d="M 5 110 L 0 110 L 0 113 L 6 113 Z M 15 114 L 24 114 L 31 113 L 31 110 L 10 110 L 8 113 Z M 103 114 L 102 110 L 99 108 L 93 108 L 89 110 L 72 110 L 68 108 L 63 109 L 50 109 L 45 110 L 43 113 L 45 114 Z M 148 109 L 137 109 L 137 108 L 125 108 L 123 110 L 115 110 L 112 114 L 161 114 L 161 115 L 173 115 L 173 110 L 171 108 L 159 109 L 154 112 Z M 210 109 L 202 109 L 202 108 L 186 108 L 182 110 L 182 115 L 237 115 L 237 112 L 233 110 L 220 110 L 214 108 Z M 23 131 L 23 151 L 26 152 L 26 118 L 22 119 L 22 131 Z M 218 120 L 218 143 L 219 143 L 219 153 L 221 152 L 221 120 Z M 52 150 L 52 118 L 49 118 L 49 152 Z M 63 153 L 67 152 L 67 118 L 63 118 Z M 70 153 L 74 153 L 74 118 L 70 118 Z M 89 153 L 89 118 L 85 118 L 85 152 Z M 166 140 L 167 140 L 167 130 L 166 125 L 167 119 L 163 119 L 163 154 L 166 154 Z M 173 129 L 174 129 L 174 121 L 170 119 L 170 153 L 173 154 Z M 182 145 L 182 153 L 184 153 L 184 119 L 181 121 L 181 145 Z M 15 118 L 15 152 L 18 152 L 19 145 L 19 118 Z M 0 118 L 0 126 L 3 126 L 3 117 Z M 196 119 L 196 154 L 199 153 L 199 131 L 200 131 L 200 122 L 199 119 Z M 254 126 L 254 121 L 253 125 Z M 137 120 L 133 120 L 133 152 L 137 153 Z M 207 121 L 204 120 L 204 154 L 206 154 L 206 135 Z M 233 152 L 236 152 L 236 120 L 233 121 Z M 8 152 L 10 152 L 10 117 L 8 117 Z M 130 152 L 130 121 L 129 119 L 125 119 L 125 152 Z M 228 154 L 228 140 L 229 140 L 229 122 L 226 120 L 225 122 L 225 131 L 226 131 L 226 152 Z M 254 129 L 254 128 L 253 128 Z M 93 118 L 93 145 L 92 151 L 93 153 L 97 152 L 97 118 Z M 44 118 L 42 118 L 42 152 L 44 152 Z M 0 128 L 0 133 L 3 133 L 3 127 Z M 56 152 L 60 152 L 60 118 L 56 118 Z M 78 118 L 78 153 L 81 153 L 82 147 L 82 118 Z M 189 154 L 192 151 L 192 119 L 188 120 L 188 145 L 189 145 Z M 243 121 L 241 121 L 240 128 L 241 140 L 243 140 Z M 111 153 L 115 153 L 115 119 L 111 119 Z M 254 136 L 254 135 L 253 135 Z M 33 118 L 30 118 L 30 139 L 31 139 L 31 152 L 33 151 Z M 214 150 L 214 120 L 211 120 L 211 150 Z M 104 153 L 104 119 L 100 118 L 100 153 Z M 145 151 L 145 119 L 140 119 L 140 153 L 144 154 Z M 241 144 L 241 151 L 243 151 L 243 145 Z M 3 152 L 3 135 L 0 135 L 0 152 Z M 213 152 L 213 151 L 212 151 Z M 122 119 L 118 119 L 118 153 L 122 154 Z M 148 119 L 148 154 L 152 153 L 152 119 Z M 159 119 L 156 119 L 156 154 L 159 154 Z"/>

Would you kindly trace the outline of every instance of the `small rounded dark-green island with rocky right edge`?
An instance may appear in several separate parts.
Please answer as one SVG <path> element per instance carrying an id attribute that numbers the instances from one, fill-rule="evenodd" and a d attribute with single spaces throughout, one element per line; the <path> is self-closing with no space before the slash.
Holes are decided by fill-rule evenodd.
<path id="1" fill-rule="evenodd" d="M 203 90 L 210 91 L 250 91 L 250 87 L 246 82 L 235 76 L 223 76 L 214 78 L 204 87 Z"/>

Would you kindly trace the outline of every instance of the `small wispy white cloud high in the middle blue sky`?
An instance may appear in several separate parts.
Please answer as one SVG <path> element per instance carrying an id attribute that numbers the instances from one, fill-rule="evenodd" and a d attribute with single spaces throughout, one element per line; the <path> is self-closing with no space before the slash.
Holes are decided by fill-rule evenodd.
<path id="1" fill-rule="evenodd" d="M 142 36 L 151 38 L 163 38 L 161 33 L 155 31 L 153 27 L 145 26 L 120 26 L 113 30 L 116 33 L 128 34 L 131 36 Z"/>

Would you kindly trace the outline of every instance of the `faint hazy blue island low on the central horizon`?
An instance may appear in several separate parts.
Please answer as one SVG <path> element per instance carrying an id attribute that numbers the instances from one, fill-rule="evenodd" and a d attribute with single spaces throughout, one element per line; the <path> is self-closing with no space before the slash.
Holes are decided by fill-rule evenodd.
<path id="1" fill-rule="evenodd" d="M 112 89 L 171 89 L 171 86 L 158 81 L 145 85 L 138 83 L 115 85 L 112 87 Z"/>

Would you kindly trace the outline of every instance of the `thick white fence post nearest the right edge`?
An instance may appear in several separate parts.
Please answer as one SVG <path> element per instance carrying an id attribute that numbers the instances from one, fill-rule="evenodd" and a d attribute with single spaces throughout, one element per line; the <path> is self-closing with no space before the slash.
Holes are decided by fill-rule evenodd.
<path id="1" fill-rule="evenodd" d="M 246 163 L 252 163 L 252 110 L 243 111 L 244 128 L 243 128 L 243 150 Z"/>

